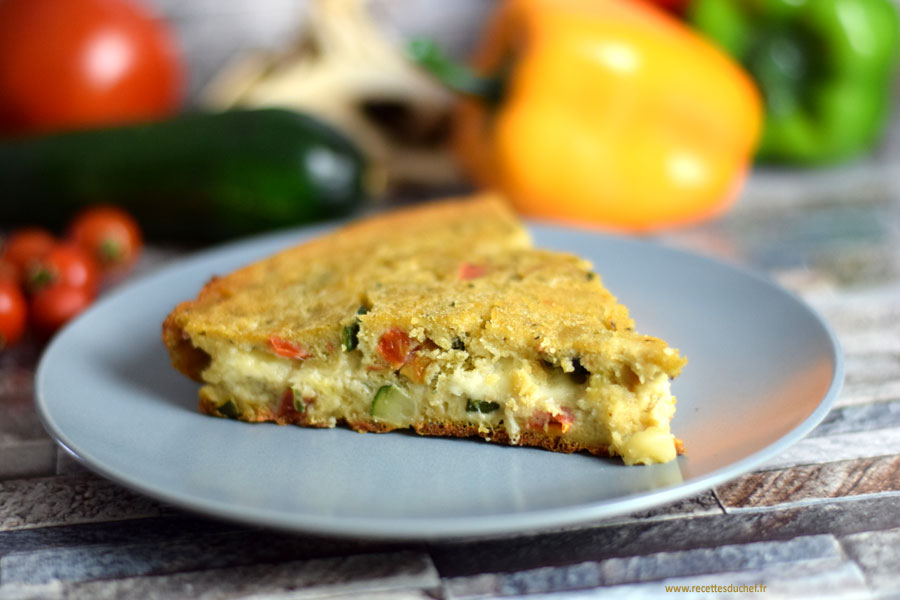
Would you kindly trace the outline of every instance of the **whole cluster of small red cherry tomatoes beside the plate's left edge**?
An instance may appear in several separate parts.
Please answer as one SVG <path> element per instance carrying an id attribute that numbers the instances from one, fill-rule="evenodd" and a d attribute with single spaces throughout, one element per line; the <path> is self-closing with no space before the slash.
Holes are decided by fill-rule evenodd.
<path id="1" fill-rule="evenodd" d="M 29 323 L 42 336 L 59 329 L 134 266 L 142 245 L 135 220 L 114 206 L 76 215 L 61 238 L 41 227 L 10 232 L 0 252 L 0 350 Z"/>

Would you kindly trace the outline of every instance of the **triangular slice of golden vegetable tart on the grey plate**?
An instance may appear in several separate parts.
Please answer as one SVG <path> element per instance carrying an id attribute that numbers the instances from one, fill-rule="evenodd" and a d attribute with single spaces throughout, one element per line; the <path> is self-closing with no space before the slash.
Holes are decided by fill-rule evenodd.
<path id="1" fill-rule="evenodd" d="M 200 410 L 666 462 L 685 364 L 502 199 L 414 206 L 215 278 L 163 324 Z"/>

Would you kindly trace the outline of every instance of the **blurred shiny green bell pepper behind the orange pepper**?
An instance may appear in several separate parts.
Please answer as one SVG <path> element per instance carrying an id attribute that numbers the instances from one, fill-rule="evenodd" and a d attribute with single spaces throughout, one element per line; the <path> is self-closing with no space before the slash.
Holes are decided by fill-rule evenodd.
<path id="1" fill-rule="evenodd" d="M 900 46 L 891 0 L 695 0 L 687 19 L 756 80 L 759 160 L 833 163 L 879 140 Z"/>

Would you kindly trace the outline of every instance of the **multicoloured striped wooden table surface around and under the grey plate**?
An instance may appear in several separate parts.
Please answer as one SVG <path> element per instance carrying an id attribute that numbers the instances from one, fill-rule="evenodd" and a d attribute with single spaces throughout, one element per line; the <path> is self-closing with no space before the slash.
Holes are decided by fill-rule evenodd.
<path id="1" fill-rule="evenodd" d="M 0 599 L 657 598 L 667 585 L 757 584 L 765 592 L 749 593 L 763 597 L 900 597 L 900 186 L 889 156 L 754 172 L 725 217 L 651 240 L 764 271 L 837 332 L 846 379 L 834 409 L 752 472 L 560 530 L 433 543 L 287 534 L 190 514 L 85 470 L 35 414 L 42 348 L 28 342 L 0 354 Z M 141 271 L 179 256 L 151 247 Z"/>

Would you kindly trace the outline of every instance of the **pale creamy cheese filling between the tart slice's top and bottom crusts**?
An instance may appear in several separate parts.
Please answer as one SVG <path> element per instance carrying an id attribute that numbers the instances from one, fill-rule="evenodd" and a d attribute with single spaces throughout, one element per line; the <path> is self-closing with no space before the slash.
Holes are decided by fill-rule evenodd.
<path id="1" fill-rule="evenodd" d="M 488 438 L 503 430 L 513 443 L 524 431 L 539 430 L 588 447 L 606 446 L 626 464 L 667 462 L 676 455 L 669 433 L 675 399 L 662 372 L 628 386 L 598 374 L 579 383 L 560 368 L 451 350 L 435 352 L 425 381 L 413 383 L 389 370 L 367 369 L 359 352 L 297 361 L 227 342 L 195 343 L 212 357 L 203 372 L 203 394 L 216 405 L 231 400 L 248 420 L 272 415 L 290 389 L 305 403 L 310 425 L 371 421 L 375 394 L 395 385 L 408 396 L 412 413 L 409 423 L 391 425 L 475 425 Z M 487 409 L 472 410 L 471 401 Z"/>

